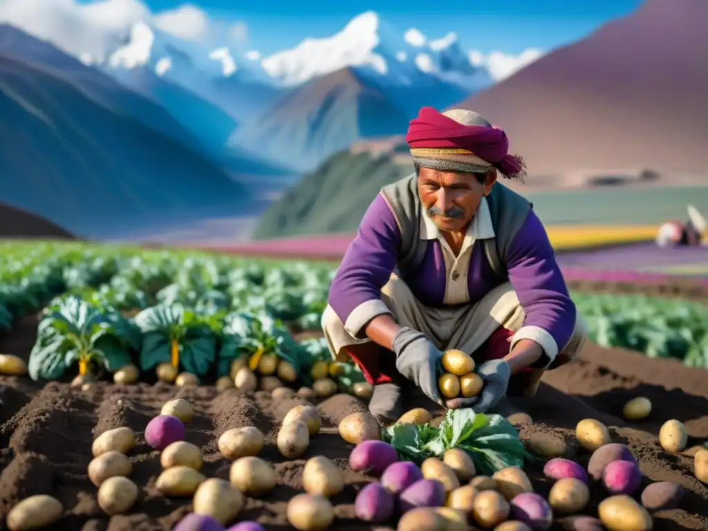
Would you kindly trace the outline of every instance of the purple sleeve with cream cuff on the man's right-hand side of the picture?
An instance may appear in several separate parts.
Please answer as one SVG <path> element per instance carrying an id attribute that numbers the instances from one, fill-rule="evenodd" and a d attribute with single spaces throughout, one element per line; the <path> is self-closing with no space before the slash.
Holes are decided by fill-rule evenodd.
<path id="1" fill-rule="evenodd" d="M 511 348 L 522 339 L 535 341 L 545 354 L 535 366 L 547 367 L 570 341 L 576 307 L 546 230 L 533 210 L 512 241 L 507 266 L 509 281 L 526 314 L 511 339 Z"/>

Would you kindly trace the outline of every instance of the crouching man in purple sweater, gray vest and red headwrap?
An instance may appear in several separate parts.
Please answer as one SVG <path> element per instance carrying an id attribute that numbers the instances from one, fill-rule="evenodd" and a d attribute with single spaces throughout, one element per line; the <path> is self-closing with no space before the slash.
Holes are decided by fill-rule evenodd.
<path id="1" fill-rule="evenodd" d="M 415 173 L 382 188 L 332 282 L 329 349 L 374 384 L 369 407 L 382 423 L 411 408 L 411 385 L 447 408 L 502 413 L 504 396 L 533 396 L 544 370 L 576 356 L 586 325 L 532 205 L 498 182 L 525 176 L 503 130 L 426 107 L 406 142 Z M 440 358 L 452 348 L 474 358 L 478 396 L 441 399 Z"/>

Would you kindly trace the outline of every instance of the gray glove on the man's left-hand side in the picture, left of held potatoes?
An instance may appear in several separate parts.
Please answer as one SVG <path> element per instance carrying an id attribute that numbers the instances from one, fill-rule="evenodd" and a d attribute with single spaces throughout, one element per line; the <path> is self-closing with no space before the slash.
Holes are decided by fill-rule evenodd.
<path id="1" fill-rule="evenodd" d="M 411 380 L 428 398 L 442 405 L 438 394 L 438 372 L 442 352 L 424 333 L 404 326 L 392 342 L 396 369 Z"/>

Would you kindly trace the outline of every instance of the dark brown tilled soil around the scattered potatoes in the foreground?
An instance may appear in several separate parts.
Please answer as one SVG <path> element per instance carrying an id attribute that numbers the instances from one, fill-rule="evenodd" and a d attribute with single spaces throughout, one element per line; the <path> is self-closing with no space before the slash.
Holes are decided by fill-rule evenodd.
<path id="1" fill-rule="evenodd" d="M 36 321 L 27 318 L 11 336 L 0 337 L 0 352 L 26 357 L 33 343 Z M 514 399 L 535 423 L 519 426 L 522 438 L 545 435 L 566 438 L 569 457 L 587 464 L 586 452 L 578 451 L 572 430 L 583 418 L 597 418 L 610 426 L 615 442 L 624 442 L 639 459 L 649 481 L 676 481 L 686 493 L 680 508 L 654 515 L 656 531 L 708 529 L 708 486 L 692 472 L 690 451 L 670 455 L 659 447 L 656 435 L 669 418 L 683 421 L 691 435 L 689 445 L 708 438 L 708 373 L 689 369 L 679 362 L 652 360 L 623 350 L 605 350 L 588 345 L 572 365 L 549 372 L 534 399 Z M 629 396 L 643 395 L 653 403 L 646 421 L 628 423 L 621 408 Z M 272 462 L 278 486 L 268 496 L 249 498 L 239 516 L 258 520 L 265 529 L 287 530 L 287 500 L 302 491 L 302 468 L 309 457 L 325 455 L 343 470 L 346 489 L 333 499 L 337 520 L 333 529 L 372 530 L 376 526 L 356 520 L 355 494 L 370 478 L 353 472 L 347 464 L 352 448 L 337 433 L 338 422 L 365 404 L 352 396 L 336 395 L 315 404 L 324 419 L 319 435 L 313 436 L 302 459 L 280 457 L 275 433 L 285 413 L 304 399 L 273 401 L 266 392 L 218 394 L 215 387 L 176 388 L 166 384 L 119 387 L 102 383 L 87 391 L 52 382 L 41 387 L 25 378 L 0 377 L 0 522 L 22 498 L 49 493 L 65 508 L 64 518 L 50 527 L 57 530 L 169 530 L 190 510 L 189 498 L 165 498 L 155 489 L 160 472 L 159 452 L 144 444 L 143 430 L 162 404 L 173 397 L 193 404 L 195 417 L 188 424 L 187 440 L 202 448 L 207 476 L 228 478 L 229 461 L 216 447 L 224 430 L 256 426 L 267 435 L 263 457 Z M 416 406 L 411 400 L 410 406 Z M 435 411 L 439 416 L 440 411 Z M 91 442 L 103 431 L 129 426 L 137 433 L 138 446 L 131 452 L 131 478 L 141 486 L 141 496 L 129 515 L 108 518 L 96 503 L 96 487 L 86 476 L 91 460 Z M 529 475 L 539 493 L 549 484 L 540 470 L 530 465 Z M 593 486 L 593 499 L 586 509 L 595 515 L 606 496 Z M 554 529 L 561 529 L 561 522 Z"/>

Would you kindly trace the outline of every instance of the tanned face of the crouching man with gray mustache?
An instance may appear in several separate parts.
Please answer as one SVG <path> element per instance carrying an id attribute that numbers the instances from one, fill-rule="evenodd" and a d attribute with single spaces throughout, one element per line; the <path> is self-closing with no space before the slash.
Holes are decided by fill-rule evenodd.
<path id="1" fill-rule="evenodd" d="M 463 231 L 491 192 L 496 170 L 490 169 L 483 182 L 474 173 L 439 171 L 421 168 L 418 172 L 418 195 L 430 219 L 441 231 Z"/>

